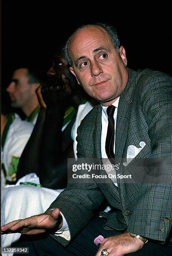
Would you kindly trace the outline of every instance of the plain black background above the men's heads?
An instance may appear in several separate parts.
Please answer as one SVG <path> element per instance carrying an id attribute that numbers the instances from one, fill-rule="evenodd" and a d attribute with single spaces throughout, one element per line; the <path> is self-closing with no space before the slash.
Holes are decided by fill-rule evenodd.
<path id="1" fill-rule="evenodd" d="M 2 1 L 2 87 L 10 82 L 13 71 L 23 64 L 50 67 L 50 56 L 76 26 L 106 22 L 115 26 L 125 47 L 128 66 L 151 68 L 172 75 L 170 6 L 150 10 L 139 3 L 136 10 L 121 3 L 45 1 Z M 122 5 L 123 4 L 123 5 Z M 76 10 L 76 7 L 78 10 Z"/>

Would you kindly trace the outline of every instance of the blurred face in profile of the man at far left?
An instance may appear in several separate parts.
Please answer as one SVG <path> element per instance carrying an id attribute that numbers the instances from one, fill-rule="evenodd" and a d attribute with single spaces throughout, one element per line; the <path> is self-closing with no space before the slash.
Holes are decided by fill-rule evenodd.
<path id="1" fill-rule="evenodd" d="M 12 75 L 12 81 L 7 87 L 7 92 L 11 98 L 11 106 L 23 108 L 32 98 L 35 91 L 31 84 L 28 84 L 27 69 L 16 69 Z"/>

